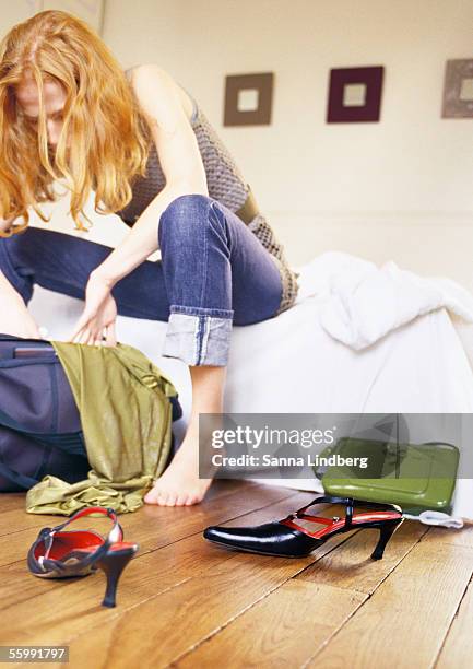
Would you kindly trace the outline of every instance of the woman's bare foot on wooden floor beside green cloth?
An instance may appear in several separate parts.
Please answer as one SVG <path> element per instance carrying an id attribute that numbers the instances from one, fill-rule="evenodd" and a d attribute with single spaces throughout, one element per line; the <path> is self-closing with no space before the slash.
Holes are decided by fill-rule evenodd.
<path id="1" fill-rule="evenodd" d="M 144 496 L 146 504 L 191 506 L 202 502 L 212 479 L 199 478 L 199 444 L 186 437 L 169 467 Z"/>

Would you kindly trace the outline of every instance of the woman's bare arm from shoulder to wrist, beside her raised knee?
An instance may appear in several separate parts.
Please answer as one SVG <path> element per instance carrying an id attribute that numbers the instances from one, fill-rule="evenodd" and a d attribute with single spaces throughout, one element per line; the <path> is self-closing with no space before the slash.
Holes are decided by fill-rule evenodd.
<path id="1" fill-rule="evenodd" d="M 93 272 L 110 287 L 158 248 L 159 218 L 173 200 L 182 195 L 208 195 L 199 146 L 175 82 L 153 64 L 137 68 L 131 81 L 150 125 L 166 186 L 146 207 L 125 240 Z"/>

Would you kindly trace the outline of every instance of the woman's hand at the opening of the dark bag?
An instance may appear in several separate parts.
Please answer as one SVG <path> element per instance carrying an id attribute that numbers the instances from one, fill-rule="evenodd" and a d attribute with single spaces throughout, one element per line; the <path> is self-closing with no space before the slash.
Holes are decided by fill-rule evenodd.
<path id="1" fill-rule="evenodd" d="M 85 308 L 69 341 L 96 345 L 117 345 L 115 321 L 117 305 L 111 287 L 99 274 L 92 272 L 85 289 Z"/>

